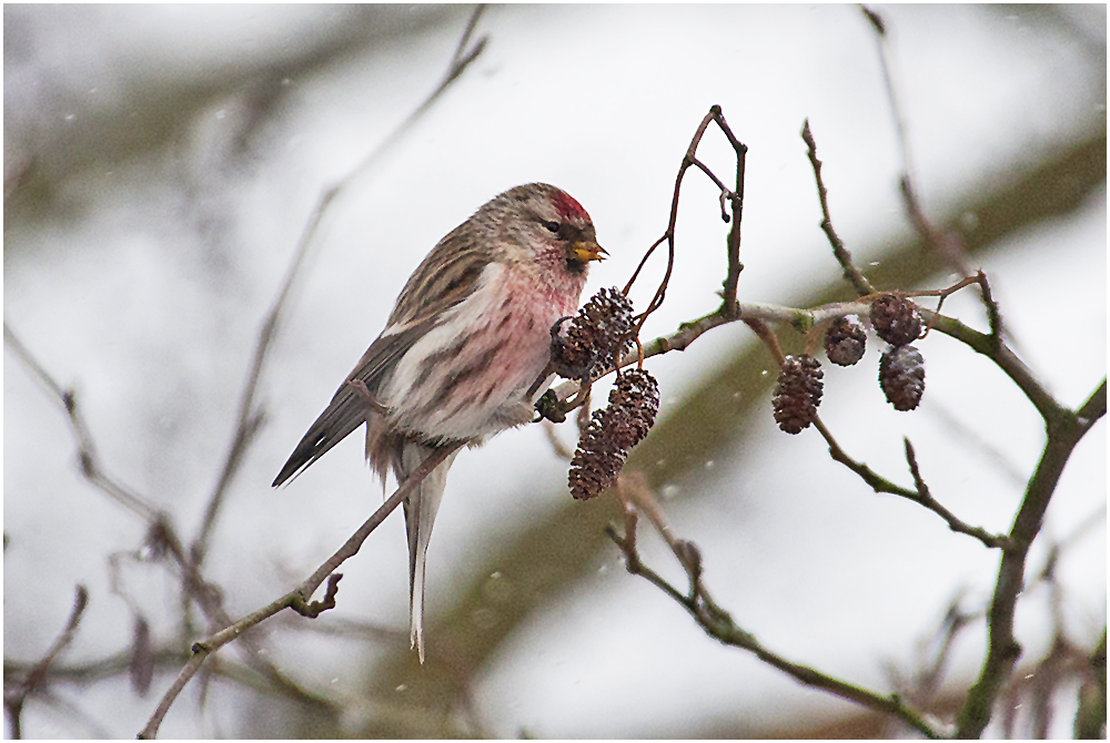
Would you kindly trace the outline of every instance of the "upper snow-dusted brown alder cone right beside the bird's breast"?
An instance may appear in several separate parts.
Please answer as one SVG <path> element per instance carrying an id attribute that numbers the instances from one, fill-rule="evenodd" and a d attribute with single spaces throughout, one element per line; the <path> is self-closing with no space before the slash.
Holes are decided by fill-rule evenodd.
<path id="1" fill-rule="evenodd" d="M 555 373 L 583 379 L 613 366 L 632 345 L 632 301 L 616 287 L 601 289 L 571 319 L 552 328 L 552 362 Z"/>

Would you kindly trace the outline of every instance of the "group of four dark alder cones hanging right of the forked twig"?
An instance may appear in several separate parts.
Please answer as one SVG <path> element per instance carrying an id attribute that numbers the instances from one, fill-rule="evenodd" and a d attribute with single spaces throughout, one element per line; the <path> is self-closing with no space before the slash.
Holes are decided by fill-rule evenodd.
<path id="1" fill-rule="evenodd" d="M 871 327 L 890 344 L 879 360 L 879 386 L 896 410 L 912 410 L 925 391 L 925 359 L 910 344 L 921 335 L 917 305 L 900 294 L 881 294 L 871 302 Z M 852 317 L 838 317 L 825 332 L 825 353 L 839 366 L 864 356 L 867 334 Z M 778 375 L 773 405 L 778 427 L 800 434 L 817 418 L 824 377 L 820 363 L 808 354 L 787 356 Z"/>

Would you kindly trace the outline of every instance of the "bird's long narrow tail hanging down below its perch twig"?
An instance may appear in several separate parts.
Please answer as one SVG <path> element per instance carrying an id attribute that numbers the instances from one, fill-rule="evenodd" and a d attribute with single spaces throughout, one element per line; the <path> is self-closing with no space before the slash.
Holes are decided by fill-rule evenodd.
<path id="1" fill-rule="evenodd" d="M 434 447 L 405 442 L 401 455 L 397 480 L 403 481 L 427 457 Z M 424 564 L 427 542 L 432 538 L 432 523 L 447 485 L 447 470 L 455 460 L 452 452 L 442 465 L 432 470 L 405 500 L 405 527 L 408 531 L 408 607 L 411 618 L 410 642 L 424 662 Z"/>

